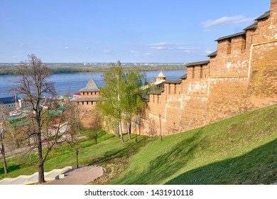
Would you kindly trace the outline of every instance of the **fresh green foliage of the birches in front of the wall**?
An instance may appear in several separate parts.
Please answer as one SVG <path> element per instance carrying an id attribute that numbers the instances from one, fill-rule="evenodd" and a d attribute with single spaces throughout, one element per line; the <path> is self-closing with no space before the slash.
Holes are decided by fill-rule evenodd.
<path id="1" fill-rule="evenodd" d="M 121 119 L 126 119 L 131 124 L 132 115 L 138 114 L 145 105 L 141 98 L 142 87 L 147 84 L 146 73 L 139 69 L 124 72 L 118 62 L 104 72 L 103 82 L 100 95 L 104 100 L 98 107 L 104 116 L 116 120 L 116 127 L 121 131 Z"/>

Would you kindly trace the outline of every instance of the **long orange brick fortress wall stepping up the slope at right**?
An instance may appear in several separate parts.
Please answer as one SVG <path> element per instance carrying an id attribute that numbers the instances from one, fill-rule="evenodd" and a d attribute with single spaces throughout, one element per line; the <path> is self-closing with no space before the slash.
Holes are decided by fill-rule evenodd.
<path id="1" fill-rule="evenodd" d="M 163 104 L 148 103 L 151 135 L 159 134 L 160 113 L 162 133 L 175 134 L 277 103 L 276 55 L 277 0 L 271 0 L 271 11 L 243 32 L 217 39 L 210 60 L 186 65 L 181 95 L 165 84 Z"/>

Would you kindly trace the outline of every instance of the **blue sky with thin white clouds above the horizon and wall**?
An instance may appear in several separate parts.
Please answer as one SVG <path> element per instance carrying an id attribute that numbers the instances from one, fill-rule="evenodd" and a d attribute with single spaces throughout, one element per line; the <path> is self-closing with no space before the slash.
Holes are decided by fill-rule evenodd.
<path id="1" fill-rule="evenodd" d="M 188 63 L 241 32 L 270 0 L 0 0 L 0 63 Z"/>

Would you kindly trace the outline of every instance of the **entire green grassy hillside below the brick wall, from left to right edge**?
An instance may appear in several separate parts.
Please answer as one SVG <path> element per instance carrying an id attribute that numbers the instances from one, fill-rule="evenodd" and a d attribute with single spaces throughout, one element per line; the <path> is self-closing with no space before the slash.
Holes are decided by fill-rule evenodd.
<path id="1" fill-rule="evenodd" d="M 79 165 L 103 166 L 92 184 L 271 184 L 277 182 L 277 104 L 171 136 L 119 137 L 102 133 L 99 141 L 84 131 Z M 127 140 L 127 136 L 124 137 Z M 9 158 L 10 173 L 0 179 L 37 171 L 36 155 Z M 1 159 L 0 159 L 1 162 Z M 62 145 L 45 161 L 45 171 L 75 166 L 75 146 Z"/>

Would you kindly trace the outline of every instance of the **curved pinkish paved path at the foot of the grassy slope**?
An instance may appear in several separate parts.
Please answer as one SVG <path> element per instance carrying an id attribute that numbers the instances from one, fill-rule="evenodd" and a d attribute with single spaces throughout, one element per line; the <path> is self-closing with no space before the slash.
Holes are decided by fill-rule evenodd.
<path id="1" fill-rule="evenodd" d="M 100 166 L 85 166 L 64 173 L 65 178 L 44 183 L 45 185 L 85 185 L 104 174 Z"/>

